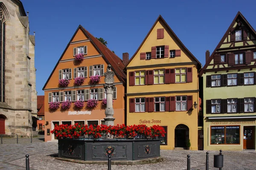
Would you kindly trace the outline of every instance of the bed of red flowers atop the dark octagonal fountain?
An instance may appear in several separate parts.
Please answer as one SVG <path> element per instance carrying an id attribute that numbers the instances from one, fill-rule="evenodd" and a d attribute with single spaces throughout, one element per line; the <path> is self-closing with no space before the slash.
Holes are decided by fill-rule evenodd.
<path id="1" fill-rule="evenodd" d="M 58 139 L 77 139 L 81 136 L 89 136 L 93 139 L 98 139 L 104 134 L 111 134 L 119 138 L 139 138 L 139 139 L 159 139 L 165 136 L 165 130 L 159 125 L 153 125 L 147 127 L 146 125 L 131 125 L 125 126 L 107 126 L 107 125 L 55 125 L 54 129 L 51 130 Z"/>

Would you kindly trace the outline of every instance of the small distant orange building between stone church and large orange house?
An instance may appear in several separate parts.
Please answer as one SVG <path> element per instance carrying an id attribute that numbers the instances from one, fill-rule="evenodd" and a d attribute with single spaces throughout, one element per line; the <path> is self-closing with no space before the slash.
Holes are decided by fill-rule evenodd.
<path id="1" fill-rule="evenodd" d="M 44 96 L 37 97 L 37 128 L 38 130 L 44 130 Z"/>

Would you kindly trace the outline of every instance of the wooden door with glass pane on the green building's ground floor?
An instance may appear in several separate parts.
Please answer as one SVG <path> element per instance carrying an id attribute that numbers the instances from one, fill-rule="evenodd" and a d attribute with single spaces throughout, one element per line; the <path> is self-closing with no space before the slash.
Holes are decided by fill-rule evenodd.
<path id="1" fill-rule="evenodd" d="M 254 136 L 255 127 L 254 126 L 244 126 L 243 134 L 243 149 L 255 149 L 254 147 Z"/>

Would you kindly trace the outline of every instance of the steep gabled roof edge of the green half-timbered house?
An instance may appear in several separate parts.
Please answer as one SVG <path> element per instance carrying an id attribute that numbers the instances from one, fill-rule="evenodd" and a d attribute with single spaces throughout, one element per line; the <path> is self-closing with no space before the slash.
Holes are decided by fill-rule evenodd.
<path id="1" fill-rule="evenodd" d="M 207 61 L 205 62 L 204 67 L 201 69 L 201 71 L 200 71 L 200 73 L 199 73 L 200 76 L 203 75 L 204 70 L 208 67 L 208 65 L 209 65 L 210 62 L 212 61 L 213 56 L 214 56 L 215 52 L 217 51 L 217 49 L 221 47 L 221 43 L 225 40 L 225 38 L 226 38 L 227 35 L 229 34 L 230 29 L 234 26 L 234 24 L 236 23 L 236 19 L 237 19 L 238 17 L 240 17 L 241 20 L 244 21 L 243 23 L 246 24 L 248 28 L 250 28 L 250 31 L 256 35 L 256 31 L 253 29 L 253 27 L 252 27 L 252 26 L 250 25 L 250 23 L 245 19 L 245 17 L 243 16 L 243 14 L 241 14 L 241 12 L 238 11 L 237 14 L 236 14 L 236 17 L 234 18 L 234 20 L 232 21 L 232 23 L 231 23 L 230 26 L 228 27 L 226 33 L 225 33 L 224 36 L 221 38 L 221 41 L 218 43 L 218 45 L 216 46 L 215 50 L 212 51 L 211 56 L 210 56 L 210 57 L 207 59 Z"/>

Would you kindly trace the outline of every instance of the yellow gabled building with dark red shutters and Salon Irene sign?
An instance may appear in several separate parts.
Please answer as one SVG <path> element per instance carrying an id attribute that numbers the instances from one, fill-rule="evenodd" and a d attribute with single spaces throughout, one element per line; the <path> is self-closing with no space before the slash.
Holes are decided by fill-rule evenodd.
<path id="1" fill-rule="evenodd" d="M 201 63 L 159 16 L 126 65 L 127 125 L 166 129 L 161 149 L 198 150 L 198 70 Z"/>

